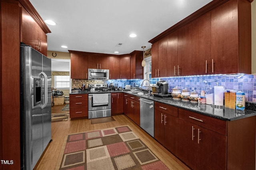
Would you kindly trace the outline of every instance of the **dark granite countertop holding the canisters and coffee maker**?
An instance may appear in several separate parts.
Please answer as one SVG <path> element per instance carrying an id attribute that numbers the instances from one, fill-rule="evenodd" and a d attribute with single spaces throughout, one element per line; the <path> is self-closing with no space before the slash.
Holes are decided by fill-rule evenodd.
<path id="1" fill-rule="evenodd" d="M 225 121 L 234 121 L 237 119 L 243 119 L 246 117 L 252 117 L 256 115 L 256 111 L 248 110 L 245 111 L 230 109 L 230 108 L 214 108 L 214 106 L 207 105 L 207 104 L 198 104 L 198 103 L 191 103 L 191 102 L 183 102 L 181 100 L 173 100 L 172 98 L 160 98 L 155 96 L 148 96 L 148 95 L 138 95 L 137 93 L 125 92 L 128 94 L 132 94 L 134 96 L 138 96 L 141 98 L 146 98 L 155 102 L 160 102 L 163 104 L 168 104 L 170 106 L 178 107 L 181 109 L 186 109 L 189 111 L 193 111 L 196 113 L 200 113 L 203 115 L 215 117 L 217 119 L 222 119 Z M 250 107 L 249 107 L 249 106 Z M 248 108 L 255 108 L 255 104 L 247 104 Z M 247 107 L 246 107 L 247 108 Z"/>

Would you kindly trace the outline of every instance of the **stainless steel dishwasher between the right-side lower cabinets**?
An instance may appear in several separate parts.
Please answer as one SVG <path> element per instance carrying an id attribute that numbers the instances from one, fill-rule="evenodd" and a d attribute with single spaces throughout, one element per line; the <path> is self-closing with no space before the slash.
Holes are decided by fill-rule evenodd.
<path id="1" fill-rule="evenodd" d="M 140 98 L 140 127 L 154 137 L 154 101 Z"/>

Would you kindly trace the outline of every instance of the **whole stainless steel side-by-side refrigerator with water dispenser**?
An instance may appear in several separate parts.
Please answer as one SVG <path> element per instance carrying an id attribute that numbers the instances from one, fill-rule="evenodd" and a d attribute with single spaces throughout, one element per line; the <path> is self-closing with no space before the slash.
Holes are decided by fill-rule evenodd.
<path id="1" fill-rule="evenodd" d="M 51 60 L 20 45 L 21 169 L 32 170 L 52 139 Z"/>

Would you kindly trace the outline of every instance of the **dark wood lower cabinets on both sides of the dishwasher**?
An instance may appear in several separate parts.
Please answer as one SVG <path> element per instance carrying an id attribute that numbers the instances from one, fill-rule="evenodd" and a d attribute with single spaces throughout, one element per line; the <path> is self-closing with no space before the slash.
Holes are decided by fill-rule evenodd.
<path id="1" fill-rule="evenodd" d="M 123 106 L 140 125 L 138 99 L 124 93 Z M 225 121 L 154 102 L 154 138 L 194 170 L 255 170 L 255 127 L 256 116 Z"/>

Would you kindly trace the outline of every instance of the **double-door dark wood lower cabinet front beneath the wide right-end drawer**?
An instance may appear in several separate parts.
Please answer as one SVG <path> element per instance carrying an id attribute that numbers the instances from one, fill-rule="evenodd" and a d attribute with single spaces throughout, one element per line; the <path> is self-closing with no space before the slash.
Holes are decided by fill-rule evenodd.
<path id="1" fill-rule="evenodd" d="M 226 136 L 178 119 L 178 157 L 192 169 L 226 169 Z"/>

